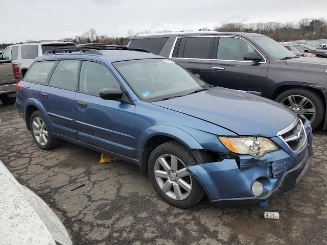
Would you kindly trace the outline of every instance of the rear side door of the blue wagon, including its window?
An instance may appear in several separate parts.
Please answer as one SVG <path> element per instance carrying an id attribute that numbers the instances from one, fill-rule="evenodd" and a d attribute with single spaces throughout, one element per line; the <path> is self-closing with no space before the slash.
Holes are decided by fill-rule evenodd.
<path id="1" fill-rule="evenodd" d="M 61 60 L 39 96 L 51 120 L 53 133 L 72 139 L 76 139 L 74 99 L 79 65 L 79 60 Z"/>

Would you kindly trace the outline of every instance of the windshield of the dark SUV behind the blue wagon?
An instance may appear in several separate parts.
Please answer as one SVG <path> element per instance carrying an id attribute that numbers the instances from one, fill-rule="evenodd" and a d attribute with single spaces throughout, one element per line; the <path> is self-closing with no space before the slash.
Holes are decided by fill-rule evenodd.
<path id="1" fill-rule="evenodd" d="M 291 51 L 286 47 L 279 44 L 269 37 L 252 37 L 253 41 L 256 42 L 269 56 L 273 59 L 282 59 L 285 57 L 295 57 Z"/>

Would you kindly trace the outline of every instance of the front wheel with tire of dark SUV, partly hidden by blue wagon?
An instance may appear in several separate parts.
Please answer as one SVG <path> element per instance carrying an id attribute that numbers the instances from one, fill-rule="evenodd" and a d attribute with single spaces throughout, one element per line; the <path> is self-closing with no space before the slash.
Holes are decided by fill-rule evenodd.
<path id="1" fill-rule="evenodd" d="M 316 129 L 325 114 L 325 105 L 320 96 L 307 89 L 293 88 L 279 94 L 275 101 L 283 104 L 295 114 L 304 115 Z"/>

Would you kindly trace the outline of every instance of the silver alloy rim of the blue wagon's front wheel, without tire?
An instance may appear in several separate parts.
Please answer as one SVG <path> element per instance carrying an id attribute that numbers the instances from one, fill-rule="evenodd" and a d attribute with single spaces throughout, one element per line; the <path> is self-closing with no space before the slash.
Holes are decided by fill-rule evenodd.
<path id="1" fill-rule="evenodd" d="M 174 200 L 184 200 L 192 191 L 192 178 L 185 164 L 173 155 L 162 155 L 154 164 L 154 176 L 160 189 Z"/>

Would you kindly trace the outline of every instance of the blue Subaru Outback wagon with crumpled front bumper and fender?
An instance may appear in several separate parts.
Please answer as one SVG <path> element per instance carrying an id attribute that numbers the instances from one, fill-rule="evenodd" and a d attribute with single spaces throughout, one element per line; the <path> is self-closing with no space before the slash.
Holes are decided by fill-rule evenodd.
<path id="1" fill-rule="evenodd" d="M 293 188 L 312 159 L 308 120 L 142 50 L 48 52 L 16 105 L 39 148 L 64 139 L 136 164 L 180 208 L 205 194 L 220 207 L 261 203 Z"/>

